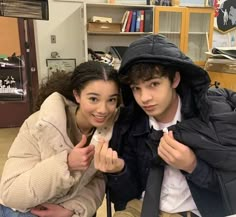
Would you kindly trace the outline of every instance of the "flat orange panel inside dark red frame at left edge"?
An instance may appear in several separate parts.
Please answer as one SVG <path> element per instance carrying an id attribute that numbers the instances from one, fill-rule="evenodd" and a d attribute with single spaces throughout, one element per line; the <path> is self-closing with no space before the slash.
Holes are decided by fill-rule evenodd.
<path id="1" fill-rule="evenodd" d="M 16 18 L 0 17 L 0 54 L 20 55 L 18 22 Z"/>

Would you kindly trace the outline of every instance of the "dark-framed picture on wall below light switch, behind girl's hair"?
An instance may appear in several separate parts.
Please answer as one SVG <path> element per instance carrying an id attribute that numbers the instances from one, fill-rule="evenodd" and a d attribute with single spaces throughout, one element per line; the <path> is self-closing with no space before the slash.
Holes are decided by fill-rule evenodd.
<path id="1" fill-rule="evenodd" d="M 46 59 L 46 66 L 48 68 L 48 76 L 57 71 L 70 72 L 76 67 L 75 58 L 54 58 Z"/>

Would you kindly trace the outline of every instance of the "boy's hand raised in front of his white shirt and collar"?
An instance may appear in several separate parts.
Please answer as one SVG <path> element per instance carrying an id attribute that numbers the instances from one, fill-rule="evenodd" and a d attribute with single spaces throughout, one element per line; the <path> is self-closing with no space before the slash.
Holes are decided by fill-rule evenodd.
<path id="1" fill-rule="evenodd" d="M 197 159 L 194 152 L 173 137 L 173 132 L 164 133 L 157 148 L 158 155 L 170 166 L 192 173 Z"/>

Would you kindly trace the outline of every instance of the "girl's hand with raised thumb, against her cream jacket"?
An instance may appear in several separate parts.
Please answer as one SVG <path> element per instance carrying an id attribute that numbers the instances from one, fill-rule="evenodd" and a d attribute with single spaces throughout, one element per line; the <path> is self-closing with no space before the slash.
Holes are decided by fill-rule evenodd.
<path id="1" fill-rule="evenodd" d="M 94 156 L 94 146 L 86 146 L 87 138 L 82 135 L 81 141 L 73 148 L 68 155 L 68 166 L 70 171 L 86 170 Z"/>

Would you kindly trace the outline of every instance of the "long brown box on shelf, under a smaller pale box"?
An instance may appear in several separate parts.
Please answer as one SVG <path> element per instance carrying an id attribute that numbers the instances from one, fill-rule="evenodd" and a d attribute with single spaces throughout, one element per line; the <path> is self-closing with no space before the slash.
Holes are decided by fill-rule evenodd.
<path id="1" fill-rule="evenodd" d="M 88 32 L 121 32 L 121 23 L 89 22 Z"/>

